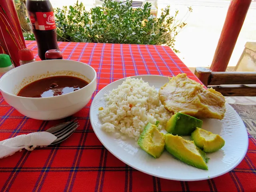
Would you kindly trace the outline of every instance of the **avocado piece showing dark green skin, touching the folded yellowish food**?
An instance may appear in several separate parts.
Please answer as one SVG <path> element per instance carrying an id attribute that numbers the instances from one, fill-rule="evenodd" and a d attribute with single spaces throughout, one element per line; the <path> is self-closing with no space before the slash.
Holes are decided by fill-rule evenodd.
<path id="1" fill-rule="evenodd" d="M 203 122 L 192 116 L 176 113 L 166 123 L 166 131 L 173 135 L 190 135 L 196 127 L 201 128 Z"/>

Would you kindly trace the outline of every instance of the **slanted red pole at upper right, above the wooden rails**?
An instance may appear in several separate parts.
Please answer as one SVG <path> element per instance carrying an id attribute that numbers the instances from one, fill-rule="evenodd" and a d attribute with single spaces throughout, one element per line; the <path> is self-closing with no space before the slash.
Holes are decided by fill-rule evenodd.
<path id="1" fill-rule="evenodd" d="M 210 70 L 226 71 L 252 0 L 231 0 Z"/>

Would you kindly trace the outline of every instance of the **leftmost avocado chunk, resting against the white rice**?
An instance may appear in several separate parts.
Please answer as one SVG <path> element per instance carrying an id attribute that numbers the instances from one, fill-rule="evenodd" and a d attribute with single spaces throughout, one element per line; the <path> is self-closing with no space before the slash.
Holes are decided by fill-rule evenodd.
<path id="1" fill-rule="evenodd" d="M 148 123 L 138 139 L 138 145 L 154 158 L 161 156 L 164 151 L 165 135 L 156 128 L 156 125 Z"/>

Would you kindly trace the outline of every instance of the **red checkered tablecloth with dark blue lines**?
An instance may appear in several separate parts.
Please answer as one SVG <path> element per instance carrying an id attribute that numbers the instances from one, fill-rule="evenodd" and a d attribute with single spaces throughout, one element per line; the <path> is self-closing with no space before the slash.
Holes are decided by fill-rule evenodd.
<path id="1" fill-rule="evenodd" d="M 36 42 L 26 43 L 38 58 Z M 64 59 L 87 63 L 96 70 L 98 86 L 92 98 L 107 84 L 128 76 L 185 72 L 198 80 L 167 46 L 60 42 L 59 47 Z M 56 146 L 23 150 L 0 159 L 1 192 L 256 192 L 256 141 L 250 135 L 244 160 L 227 174 L 196 182 L 166 180 L 137 171 L 108 152 L 90 125 L 90 104 L 70 118 L 48 122 L 25 117 L 0 98 L 0 140 L 42 131 L 75 117 L 80 124 L 70 138 Z"/>

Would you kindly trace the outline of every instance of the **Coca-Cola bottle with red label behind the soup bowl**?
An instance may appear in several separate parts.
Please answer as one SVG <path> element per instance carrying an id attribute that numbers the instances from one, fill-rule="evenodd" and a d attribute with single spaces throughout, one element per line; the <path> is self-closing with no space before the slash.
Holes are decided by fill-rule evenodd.
<path id="1" fill-rule="evenodd" d="M 26 7 L 38 46 L 38 56 L 45 60 L 47 50 L 59 50 L 52 4 L 49 0 L 27 0 Z"/>

